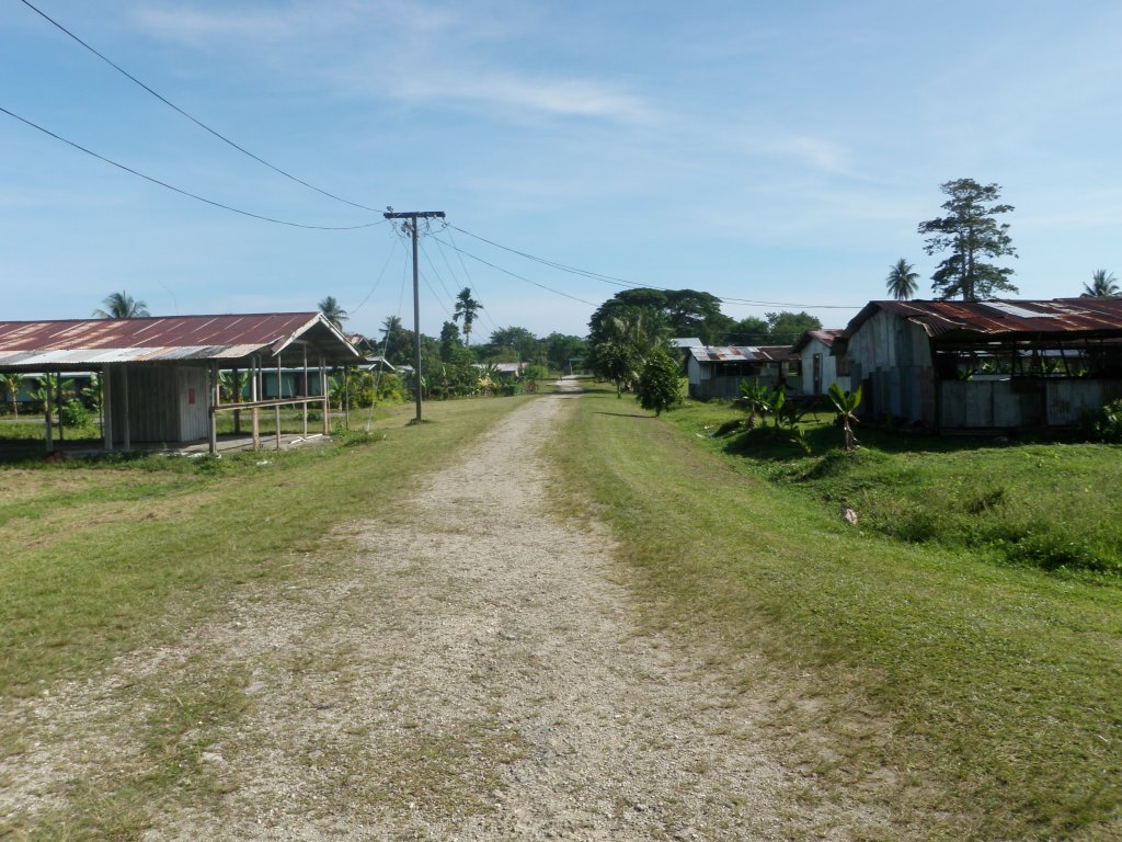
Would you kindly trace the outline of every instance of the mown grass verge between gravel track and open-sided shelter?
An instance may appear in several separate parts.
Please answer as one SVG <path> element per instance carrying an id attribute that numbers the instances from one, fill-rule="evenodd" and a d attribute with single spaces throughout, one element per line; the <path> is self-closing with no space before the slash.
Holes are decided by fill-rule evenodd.
<path id="1" fill-rule="evenodd" d="M 0 467 L 0 693 L 35 692 L 174 634 L 228 588 L 283 579 L 375 516 L 524 397 L 397 408 L 374 436 L 282 454 Z"/>

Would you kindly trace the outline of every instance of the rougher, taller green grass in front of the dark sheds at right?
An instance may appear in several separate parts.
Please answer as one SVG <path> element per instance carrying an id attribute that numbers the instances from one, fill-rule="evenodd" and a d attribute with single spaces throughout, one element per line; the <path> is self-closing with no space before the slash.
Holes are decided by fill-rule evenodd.
<path id="1" fill-rule="evenodd" d="M 670 420 L 716 452 L 742 455 L 739 470 L 804 492 L 834 511 L 854 509 L 863 529 L 967 548 L 994 561 L 1122 575 L 1118 446 L 871 429 L 859 431 L 861 449 L 846 454 L 840 430 L 824 412 L 802 428 L 810 448 L 804 454 L 772 428 L 728 430 L 743 418 L 712 403 L 691 404 Z"/>

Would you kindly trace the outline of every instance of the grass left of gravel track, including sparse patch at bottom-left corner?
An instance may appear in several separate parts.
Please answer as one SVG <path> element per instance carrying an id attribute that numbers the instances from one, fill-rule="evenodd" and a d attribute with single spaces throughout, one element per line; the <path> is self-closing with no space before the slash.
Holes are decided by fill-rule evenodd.
<path id="1" fill-rule="evenodd" d="M 524 400 L 429 404 L 432 423 L 420 425 L 406 425 L 412 406 L 398 408 L 373 437 L 280 454 L 0 467 L 0 713 L 119 655 L 174 643 L 231 601 L 331 577 L 349 547 L 333 537 L 338 524 L 396 514 L 426 474 Z M 123 677 L 122 698 L 147 713 L 121 742 L 140 754 L 104 751 L 93 767 L 74 758 L 61 806 L 0 816 L 0 838 L 140 839 L 176 793 L 195 793 L 196 804 L 220 797 L 200 758 L 245 715 L 246 669 Z M 3 721 L 0 760 L 17 771 L 0 788 L 16 782 L 21 756 L 40 750 L 29 740 L 43 738 L 30 736 L 34 716 Z M 112 749 L 111 724 L 99 727 L 94 748 Z"/>

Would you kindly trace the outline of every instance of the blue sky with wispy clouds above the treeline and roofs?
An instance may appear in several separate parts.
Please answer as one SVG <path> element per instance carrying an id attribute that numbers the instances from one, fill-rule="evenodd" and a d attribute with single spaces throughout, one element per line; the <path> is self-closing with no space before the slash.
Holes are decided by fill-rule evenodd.
<path id="1" fill-rule="evenodd" d="M 35 6 L 270 164 L 378 211 L 444 211 L 454 228 L 422 244 L 433 336 L 463 286 L 484 304 L 477 339 L 583 335 L 620 289 L 470 235 L 757 302 L 727 303 L 734 318 L 806 309 L 844 326 L 884 298 L 900 257 L 929 294 L 940 258 L 916 228 L 959 177 L 1014 205 L 1021 296 L 1122 274 L 1113 1 Z M 20 0 L 0 7 L 0 108 L 251 213 L 381 222 L 230 148 Z M 126 290 L 154 314 L 333 295 L 356 331 L 412 326 L 407 249 L 388 225 L 239 216 L 3 113 L 0 152 L 0 319 L 85 318 Z"/>

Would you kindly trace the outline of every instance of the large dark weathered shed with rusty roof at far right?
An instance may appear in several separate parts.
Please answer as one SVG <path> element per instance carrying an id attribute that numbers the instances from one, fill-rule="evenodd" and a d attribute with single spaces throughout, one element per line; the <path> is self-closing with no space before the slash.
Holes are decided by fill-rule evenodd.
<path id="1" fill-rule="evenodd" d="M 1122 298 L 872 301 L 831 351 L 861 414 L 940 431 L 1072 427 L 1122 396 Z"/>

